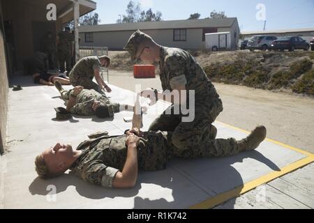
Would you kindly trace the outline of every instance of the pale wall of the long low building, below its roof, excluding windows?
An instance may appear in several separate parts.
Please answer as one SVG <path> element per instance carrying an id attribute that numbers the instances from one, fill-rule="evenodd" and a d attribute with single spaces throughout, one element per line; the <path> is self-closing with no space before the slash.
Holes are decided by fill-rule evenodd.
<path id="1" fill-rule="evenodd" d="M 235 29 L 235 28 L 234 28 Z M 205 42 L 202 40 L 203 29 L 187 29 L 186 41 L 173 41 L 173 29 L 142 30 L 154 38 L 156 43 L 167 47 L 178 47 L 181 49 L 204 49 Z M 230 31 L 230 28 L 218 28 L 218 32 Z M 80 33 L 81 46 L 87 47 L 109 47 L 110 50 L 121 50 L 128 42 L 128 38 L 134 31 L 108 31 L 94 33 L 94 42 L 85 42 L 85 33 Z M 239 32 L 238 32 L 239 35 Z"/>

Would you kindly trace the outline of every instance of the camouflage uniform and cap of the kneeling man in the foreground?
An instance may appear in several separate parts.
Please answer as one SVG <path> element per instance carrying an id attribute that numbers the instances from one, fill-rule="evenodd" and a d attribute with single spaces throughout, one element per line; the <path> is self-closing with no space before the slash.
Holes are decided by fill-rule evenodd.
<path id="1" fill-rule="evenodd" d="M 135 59 L 137 47 L 147 38 L 150 37 L 136 31 L 124 49 L 128 50 Z M 203 145 L 204 141 L 214 146 L 217 153 L 226 150 L 234 151 L 237 148 L 235 139 L 210 139 L 211 124 L 223 111 L 223 103 L 214 85 L 193 56 L 182 49 L 161 47 L 160 80 L 164 91 L 172 91 L 182 85 L 186 86 L 187 91 L 195 91 L 194 121 L 182 122 L 182 114 L 170 114 L 165 111 L 149 128 L 152 131 L 173 131 L 172 143 L 177 148 L 177 155 L 193 155 L 193 151 Z M 174 106 L 167 110 L 173 108 Z"/>

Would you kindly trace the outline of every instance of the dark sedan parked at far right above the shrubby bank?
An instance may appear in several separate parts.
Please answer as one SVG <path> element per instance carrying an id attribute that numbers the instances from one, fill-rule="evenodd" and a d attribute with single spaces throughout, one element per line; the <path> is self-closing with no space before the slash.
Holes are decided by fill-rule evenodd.
<path id="1" fill-rule="evenodd" d="M 294 51 L 294 49 L 304 49 L 308 51 L 310 45 L 306 43 L 306 40 L 302 39 L 299 36 L 284 36 L 275 40 L 273 44 L 271 44 L 271 49 L 284 51 L 288 49 L 290 52 Z"/>

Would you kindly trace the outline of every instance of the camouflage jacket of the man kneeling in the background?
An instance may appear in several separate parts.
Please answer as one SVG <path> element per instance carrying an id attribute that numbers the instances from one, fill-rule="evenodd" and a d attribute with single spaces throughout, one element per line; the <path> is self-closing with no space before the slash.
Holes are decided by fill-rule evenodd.
<path id="1" fill-rule="evenodd" d="M 94 78 L 94 70 L 100 68 L 101 63 L 98 56 L 87 56 L 78 61 L 70 71 L 69 77 L 80 76 L 89 79 Z"/>

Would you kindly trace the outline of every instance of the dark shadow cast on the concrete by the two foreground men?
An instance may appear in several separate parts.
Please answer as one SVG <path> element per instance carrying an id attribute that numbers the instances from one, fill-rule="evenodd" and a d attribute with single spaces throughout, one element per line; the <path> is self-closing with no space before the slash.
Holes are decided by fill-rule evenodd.
<path id="1" fill-rule="evenodd" d="M 172 168 L 176 171 L 181 172 L 180 177 L 189 178 L 193 183 L 197 184 L 197 187 L 209 194 L 209 197 L 214 197 L 216 194 L 222 192 L 227 192 L 234 188 L 235 197 L 240 195 L 243 188 L 244 181 L 241 174 L 232 167 L 232 164 L 237 162 L 243 162 L 244 159 L 251 158 L 266 164 L 270 169 L 274 171 L 280 171 L 280 168 L 271 162 L 267 157 L 264 157 L 261 153 L 257 151 L 251 151 L 247 153 L 241 153 L 233 157 L 221 157 L 221 158 L 208 158 L 208 159 L 198 159 L 198 160 L 181 160 L 175 158 L 172 160 L 168 168 Z M 185 169 L 200 169 L 199 176 L 193 176 L 190 174 L 184 174 Z M 208 174 L 206 173 L 208 169 Z M 192 170 L 193 172 L 193 170 Z M 197 179 L 196 179 L 197 178 Z M 189 180 L 189 181 L 190 181 Z M 159 185 L 165 189 L 172 190 L 172 201 L 167 201 L 166 199 L 149 200 L 138 197 L 141 184 L 154 184 Z M 97 185 L 92 185 L 90 183 L 84 182 L 80 178 L 77 178 L 73 174 L 63 174 L 59 178 L 54 178 L 50 180 L 42 180 L 36 178 L 33 183 L 29 185 L 29 192 L 31 194 L 47 195 L 50 190 L 47 190 L 49 185 L 54 185 L 57 189 L 57 194 L 67 190 L 69 186 L 74 186 L 78 194 L 82 197 L 87 197 L 89 199 L 104 199 L 104 198 L 114 198 L 114 197 L 135 197 L 134 208 L 188 208 L 189 206 L 182 206 L 182 203 L 186 203 L 186 185 L 182 185 L 176 176 L 171 176 L 167 170 L 165 171 L 140 171 L 139 178 L 137 180 L 137 185 L 129 190 L 118 190 L 118 189 L 107 189 Z M 206 197 L 204 197 L 204 200 Z M 227 206 L 223 208 L 234 208 L 234 203 L 228 203 Z"/>

